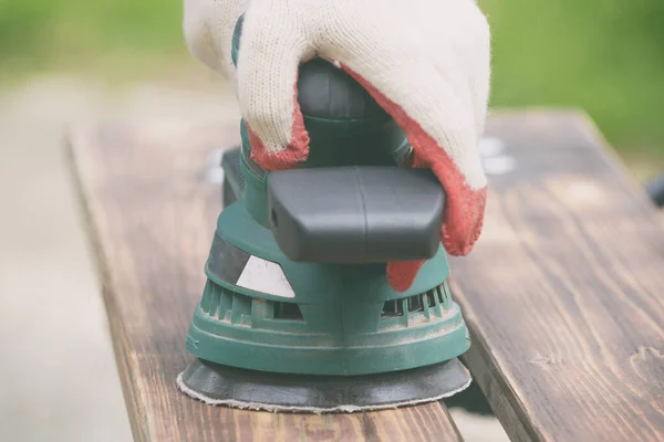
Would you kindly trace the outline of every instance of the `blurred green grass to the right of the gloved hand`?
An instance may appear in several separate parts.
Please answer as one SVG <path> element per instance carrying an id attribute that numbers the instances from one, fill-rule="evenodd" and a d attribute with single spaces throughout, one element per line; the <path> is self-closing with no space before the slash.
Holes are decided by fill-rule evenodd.
<path id="1" fill-rule="evenodd" d="M 664 2 L 480 0 L 494 106 L 584 108 L 618 146 L 664 152 Z"/>

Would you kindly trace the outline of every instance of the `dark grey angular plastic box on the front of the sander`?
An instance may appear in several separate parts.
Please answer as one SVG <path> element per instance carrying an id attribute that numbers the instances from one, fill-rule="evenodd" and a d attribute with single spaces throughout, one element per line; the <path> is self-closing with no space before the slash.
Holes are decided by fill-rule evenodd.
<path id="1" fill-rule="evenodd" d="M 293 261 L 425 260 L 438 250 L 445 192 L 429 170 L 312 168 L 268 179 L 270 227 Z"/>

